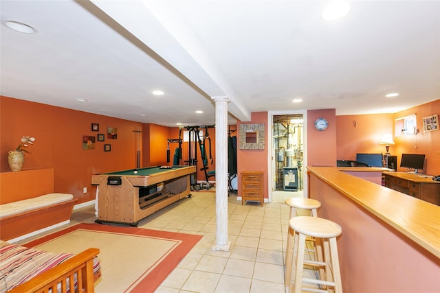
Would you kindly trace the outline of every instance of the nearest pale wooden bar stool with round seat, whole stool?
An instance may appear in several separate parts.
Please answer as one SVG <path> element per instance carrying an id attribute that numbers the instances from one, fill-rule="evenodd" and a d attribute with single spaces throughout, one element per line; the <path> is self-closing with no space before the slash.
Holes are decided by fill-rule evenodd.
<path id="1" fill-rule="evenodd" d="M 341 235 L 342 228 L 330 220 L 300 216 L 289 220 L 289 227 L 294 231 L 294 263 L 293 263 L 293 292 L 305 291 L 329 292 L 331 288 L 335 293 L 342 292 L 342 281 L 338 259 L 338 246 L 336 237 Z M 323 261 L 308 261 L 304 259 L 306 237 L 311 236 L 321 239 L 324 248 Z M 303 277 L 304 265 L 322 266 L 325 276 L 321 279 Z M 314 284 L 316 287 L 305 287 L 303 283 Z M 289 284 L 292 292 L 292 284 Z"/>

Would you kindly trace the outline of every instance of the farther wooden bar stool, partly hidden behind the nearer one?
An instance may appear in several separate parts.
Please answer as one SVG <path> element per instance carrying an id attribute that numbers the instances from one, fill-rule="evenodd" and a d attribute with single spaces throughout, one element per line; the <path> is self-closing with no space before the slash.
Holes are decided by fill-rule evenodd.
<path id="1" fill-rule="evenodd" d="M 318 200 L 314 200 L 311 198 L 287 198 L 287 200 L 285 200 L 285 204 L 287 204 L 290 207 L 289 220 L 294 217 L 297 217 L 298 215 L 310 215 L 312 217 L 317 217 L 318 215 L 316 209 L 321 207 L 321 203 Z M 292 231 L 292 228 L 289 227 L 287 231 L 286 260 L 285 260 L 286 270 L 284 277 L 284 282 L 286 287 L 289 286 L 290 284 L 290 276 L 292 274 L 293 240 L 294 240 L 294 231 Z M 318 253 L 318 255 L 320 255 L 320 253 Z"/>

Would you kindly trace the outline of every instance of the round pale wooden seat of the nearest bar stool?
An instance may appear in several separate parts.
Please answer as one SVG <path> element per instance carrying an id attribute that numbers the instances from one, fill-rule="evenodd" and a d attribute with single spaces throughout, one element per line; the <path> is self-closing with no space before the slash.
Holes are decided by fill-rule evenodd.
<path id="1" fill-rule="evenodd" d="M 342 234 L 342 228 L 327 219 L 300 216 L 289 220 L 289 226 L 298 233 L 320 238 L 332 238 Z"/>

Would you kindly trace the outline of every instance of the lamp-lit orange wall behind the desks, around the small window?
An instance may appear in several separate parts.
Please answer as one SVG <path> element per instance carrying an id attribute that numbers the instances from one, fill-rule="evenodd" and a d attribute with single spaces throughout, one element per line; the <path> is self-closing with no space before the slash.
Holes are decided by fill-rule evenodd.
<path id="1" fill-rule="evenodd" d="M 395 114 L 337 116 L 338 159 L 354 160 L 358 152 L 385 153 L 385 146 L 379 144 L 382 134 L 394 134 L 395 119 L 414 113 L 419 133 L 393 137 L 395 145 L 390 146 L 390 153 L 397 156 L 397 166 L 403 153 L 425 154 L 423 173 L 440 174 L 440 131 L 423 132 L 422 121 L 423 117 L 440 115 L 440 99 Z M 397 171 L 406 172 L 406 168 L 398 167 Z"/>

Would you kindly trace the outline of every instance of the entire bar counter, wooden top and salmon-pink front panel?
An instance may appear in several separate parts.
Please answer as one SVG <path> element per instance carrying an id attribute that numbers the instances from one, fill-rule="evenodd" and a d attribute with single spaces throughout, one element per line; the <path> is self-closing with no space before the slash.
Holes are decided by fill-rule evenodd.
<path id="1" fill-rule="evenodd" d="M 365 168 L 307 169 L 318 216 L 342 226 L 345 292 L 440 292 L 440 207 L 356 176 Z"/>

